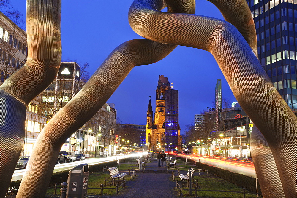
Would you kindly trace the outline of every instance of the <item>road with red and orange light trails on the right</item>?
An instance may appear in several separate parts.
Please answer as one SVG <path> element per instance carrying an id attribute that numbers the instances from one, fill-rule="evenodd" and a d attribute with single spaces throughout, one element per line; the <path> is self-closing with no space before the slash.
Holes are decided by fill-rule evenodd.
<path id="1" fill-rule="evenodd" d="M 220 158 L 206 158 L 195 155 L 185 155 L 178 154 L 178 157 L 186 157 L 187 159 L 192 159 L 197 161 L 200 158 L 200 162 L 203 164 L 207 164 L 210 166 L 215 166 L 218 168 L 222 168 L 224 170 L 229 170 L 233 173 L 247 175 L 249 177 L 256 177 L 256 171 L 253 163 L 244 163 L 241 161 L 229 161 L 229 160 L 220 160 Z"/>

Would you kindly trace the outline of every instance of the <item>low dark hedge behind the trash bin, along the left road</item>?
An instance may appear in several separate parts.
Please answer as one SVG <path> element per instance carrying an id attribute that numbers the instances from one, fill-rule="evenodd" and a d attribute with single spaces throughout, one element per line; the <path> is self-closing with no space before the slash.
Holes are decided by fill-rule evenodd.
<path id="1" fill-rule="evenodd" d="M 114 167 L 118 165 L 118 162 L 115 161 L 111 161 L 111 162 L 103 162 L 100 164 L 95 164 L 95 165 L 90 165 L 89 166 L 89 173 L 95 173 L 98 171 L 102 171 L 102 168 L 105 167 Z M 53 173 L 52 177 L 50 178 L 50 184 L 49 186 L 54 186 L 55 183 L 61 184 L 62 182 L 67 182 L 68 179 L 68 174 L 69 174 L 69 170 L 64 170 L 64 171 L 60 171 L 57 173 Z M 18 190 L 20 187 L 20 182 L 22 180 L 19 179 L 17 181 L 11 181 L 9 184 L 9 189 L 11 190 Z"/>

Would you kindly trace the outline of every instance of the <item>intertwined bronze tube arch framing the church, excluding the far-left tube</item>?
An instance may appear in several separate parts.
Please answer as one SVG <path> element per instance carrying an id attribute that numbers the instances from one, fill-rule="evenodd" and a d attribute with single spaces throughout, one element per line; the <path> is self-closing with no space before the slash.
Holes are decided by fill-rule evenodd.
<path id="1" fill-rule="evenodd" d="M 103 106 L 134 66 L 161 60 L 176 45 L 207 50 L 214 55 L 237 101 L 267 140 L 283 186 L 283 191 L 280 189 L 277 196 L 297 196 L 297 119 L 257 59 L 255 27 L 246 1 L 211 1 L 233 25 L 211 17 L 192 15 L 194 0 L 166 2 L 168 11 L 176 13 L 158 11 L 165 7 L 163 0 L 133 2 L 129 10 L 130 25 L 146 39 L 127 41 L 117 47 L 83 89 L 44 127 L 37 138 L 17 197 L 44 197 L 56 156 L 65 140 Z M 23 108 L 26 104 L 23 103 Z M 256 140 L 255 145 L 264 143 Z M 42 157 L 48 154 L 51 154 L 49 158 Z M 259 169 L 265 165 L 265 162 L 256 164 L 257 173 L 263 173 L 258 174 L 263 177 L 259 178 L 262 182 L 266 181 L 267 172 Z M 274 186 L 271 188 L 277 186 L 279 180 L 272 181 Z M 265 191 L 263 194 L 269 197 Z"/>

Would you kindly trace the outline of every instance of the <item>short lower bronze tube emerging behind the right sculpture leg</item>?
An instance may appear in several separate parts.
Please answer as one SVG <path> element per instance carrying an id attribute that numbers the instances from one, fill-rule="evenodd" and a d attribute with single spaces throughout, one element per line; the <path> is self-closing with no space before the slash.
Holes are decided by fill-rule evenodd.
<path id="1" fill-rule="evenodd" d="M 257 127 L 253 127 L 250 145 L 263 197 L 285 197 L 271 150 Z"/>

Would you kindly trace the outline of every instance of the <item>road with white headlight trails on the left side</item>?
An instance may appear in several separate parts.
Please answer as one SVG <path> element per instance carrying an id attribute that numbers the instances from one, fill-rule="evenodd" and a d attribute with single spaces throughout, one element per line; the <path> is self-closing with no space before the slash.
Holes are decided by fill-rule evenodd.
<path id="1" fill-rule="evenodd" d="M 94 164 L 99 164 L 102 162 L 119 160 L 119 159 L 132 157 L 132 156 L 136 156 L 136 155 L 139 156 L 139 155 L 141 155 L 141 153 L 140 154 L 128 154 L 128 155 L 116 155 L 116 156 L 112 156 L 112 157 L 102 157 L 102 158 L 89 158 L 89 159 L 82 160 L 82 161 L 76 161 L 76 162 L 64 163 L 64 164 L 56 164 L 53 172 L 56 173 L 56 172 L 63 171 L 63 170 L 70 170 L 79 164 L 87 163 L 89 165 L 94 165 Z M 24 173 L 25 173 L 25 169 L 15 169 L 13 176 L 11 178 L 11 181 L 16 181 L 18 179 L 22 179 Z"/>

